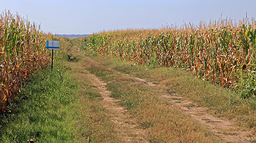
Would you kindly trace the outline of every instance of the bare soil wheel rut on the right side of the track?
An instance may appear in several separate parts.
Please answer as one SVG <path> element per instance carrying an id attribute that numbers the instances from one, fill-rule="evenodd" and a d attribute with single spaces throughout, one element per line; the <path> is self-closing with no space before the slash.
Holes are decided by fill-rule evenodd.
<path id="1" fill-rule="evenodd" d="M 139 77 L 134 77 L 134 79 L 147 86 L 161 86 Z M 218 138 L 224 139 L 226 142 L 251 142 L 255 139 L 248 136 L 252 130 L 241 129 L 236 123 L 232 122 L 232 120 L 212 116 L 207 113 L 206 107 L 201 107 L 191 101 L 185 100 L 180 95 L 166 94 L 160 96 L 168 100 L 170 105 L 178 106 L 185 114 L 188 114 L 188 116 L 194 119 L 197 123 L 203 125 L 207 130 L 214 133 Z"/>

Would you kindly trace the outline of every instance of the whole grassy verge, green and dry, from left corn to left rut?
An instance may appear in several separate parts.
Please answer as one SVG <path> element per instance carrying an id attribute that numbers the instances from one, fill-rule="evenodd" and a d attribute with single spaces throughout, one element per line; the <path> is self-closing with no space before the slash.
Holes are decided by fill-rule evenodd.
<path id="1" fill-rule="evenodd" d="M 61 46 L 67 51 L 73 45 L 65 38 Z M 10 111 L 0 114 L 0 142 L 120 142 L 93 79 L 81 78 L 86 74 L 77 65 L 83 57 L 69 61 L 63 50 L 54 53 L 53 71 L 34 73 Z"/>

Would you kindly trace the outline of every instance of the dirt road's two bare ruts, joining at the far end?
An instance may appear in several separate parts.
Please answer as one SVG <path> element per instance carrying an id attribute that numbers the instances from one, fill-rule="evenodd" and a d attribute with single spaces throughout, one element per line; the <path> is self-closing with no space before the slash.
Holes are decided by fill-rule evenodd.
<path id="1" fill-rule="evenodd" d="M 112 69 L 111 67 L 103 66 L 102 63 L 94 61 L 92 58 L 86 57 L 80 52 L 77 46 L 71 47 L 68 52 L 70 56 L 70 67 L 71 69 L 76 69 L 80 71 L 80 74 L 86 74 L 86 78 L 92 79 L 92 85 L 95 91 L 99 92 L 103 100 L 99 101 L 103 107 L 108 110 L 110 114 L 110 119 L 115 125 L 116 136 L 119 137 L 122 142 L 149 142 L 152 135 L 149 135 L 150 128 L 141 128 L 138 119 L 132 117 L 131 112 L 124 108 L 120 102 L 120 99 L 113 98 L 112 91 L 107 88 L 106 81 L 103 81 L 97 75 L 90 72 L 88 69 L 92 67 L 98 67 L 100 70 L 107 70 L 114 74 L 121 75 L 120 80 L 127 80 L 129 84 L 134 82 L 134 84 L 139 84 L 141 86 L 155 87 L 152 88 L 152 92 L 158 90 L 159 93 L 164 93 L 166 87 L 161 85 L 156 85 L 153 82 L 149 82 L 146 79 L 141 79 L 129 74 L 122 73 Z M 83 76 L 76 77 L 82 80 Z M 147 88 L 150 90 L 150 88 Z M 154 91 L 153 91 L 154 90 Z M 151 92 L 151 91 L 149 91 Z M 253 141 L 252 136 L 248 136 L 251 130 L 239 128 L 232 120 L 222 119 L 215 117 L 207 113 L 207 108 L 197 105 L 192 101 L 188 101 L 178 94 L 159 94 L 158 98 L 164 100 L 168 103 L 169 107 L 179 108 L 188 118 L 192 120 L 201 128 L 206 129 L 212 133 L 213 142 L 250 142 Z M 161 111 L 160 111 L 161 112 Z"/>

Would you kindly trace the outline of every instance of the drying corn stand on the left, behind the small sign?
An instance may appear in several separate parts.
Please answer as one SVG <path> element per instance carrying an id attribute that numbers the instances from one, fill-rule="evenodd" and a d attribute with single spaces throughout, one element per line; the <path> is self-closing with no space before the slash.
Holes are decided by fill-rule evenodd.
<path id="1" fill-rule="evenodd" d="M 0 21 L 0 111 L 6 111 L 29 74 L 49 63 L 44 46 L 52 35 L 9 11 L 0 15 Z"/>

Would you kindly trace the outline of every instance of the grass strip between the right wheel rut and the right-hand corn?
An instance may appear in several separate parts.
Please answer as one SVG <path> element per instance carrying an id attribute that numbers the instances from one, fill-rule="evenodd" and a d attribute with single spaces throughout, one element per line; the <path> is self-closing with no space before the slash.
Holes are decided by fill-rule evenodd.
<path id="1" fill-rule="evenodd" d="M 101 64 L 122 73 L 147 78 L 154 83 L 166 86 L 172 92 L 176 92 L 190 101 L 197 102 L 199 105 L 208 107 L 208 112 L 211 114 L 233 119 L 237 125 L 245 128 L 256 128 L 256 101 L 253 99 L 240 98 L 236 92 L 197 79 L 184 70 L 165 67 L 154 69 L 122 60 L 109 58 L 106 60 L 107 57 L 93 58 Z"/>

